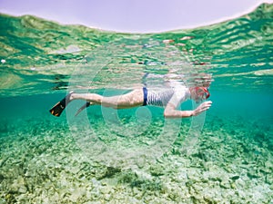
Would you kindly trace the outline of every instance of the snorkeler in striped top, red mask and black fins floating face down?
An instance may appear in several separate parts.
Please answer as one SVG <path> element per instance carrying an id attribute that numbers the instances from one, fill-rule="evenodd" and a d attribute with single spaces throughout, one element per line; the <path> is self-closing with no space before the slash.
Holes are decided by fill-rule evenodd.
<path id="1" fill-rule="evenodd" d="M 207 111 L 211 103 L 207 100 L 209 92 L 207 90 L 209 83 L 198 86 L 190 86 L 189 88 L 181 83 L 169 82 L 166 88 L 147 88 L 135 89 L 126 94 L 116 96 L 102 96 L 96 93 L 76 93 L 70 92 L 66 97 L 57 102 L 50 110 L 51 114 L 60 116 L 69 102 L 74 100 L 84 100 L 86 104 L 76 112 L 76 115 L 90 105 L 102 105 L 114 109 L 128 109 L 138 106 L 160 106 L 165 107 L 164 116 L 167 118 L 186 118 L 197 116 L 201 112 Z M 196 102 L 202 102 L 197 109 L 192 111 L 179 111 L 177 107 L 181 102 L 188 99 Z"/>

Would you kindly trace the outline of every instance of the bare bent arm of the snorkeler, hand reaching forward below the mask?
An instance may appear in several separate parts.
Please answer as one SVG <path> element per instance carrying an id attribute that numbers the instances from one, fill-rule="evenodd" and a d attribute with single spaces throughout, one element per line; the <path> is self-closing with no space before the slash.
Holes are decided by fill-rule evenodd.
<path id="1" fill-rule="evenodd" d="M 197 109 L 195 109 L 193 111 L 178 111 L 178 110 L 176 110 L 175 105 L 168 102 L 167 106 L 165 108 L 165 111 L 164 111 L 164 116 L 166 118 L 187 118 L 187 117 L 191 117 L 191 116 L 197 116 L 201 112 L 206 112 L 210 108 L 211 103 L 212 102 L 210 102 L 210 101 L 202 102 L 197 107 Z"/>

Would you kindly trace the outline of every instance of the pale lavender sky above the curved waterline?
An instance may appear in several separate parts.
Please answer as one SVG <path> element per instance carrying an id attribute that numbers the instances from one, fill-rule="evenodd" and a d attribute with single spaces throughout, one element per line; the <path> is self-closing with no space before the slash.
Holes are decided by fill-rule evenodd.
<path id="1" fill-rule="evenodd" d="M 0 0 L 0 13 L 128 33 L 215 24 L 273 0 Z"/>

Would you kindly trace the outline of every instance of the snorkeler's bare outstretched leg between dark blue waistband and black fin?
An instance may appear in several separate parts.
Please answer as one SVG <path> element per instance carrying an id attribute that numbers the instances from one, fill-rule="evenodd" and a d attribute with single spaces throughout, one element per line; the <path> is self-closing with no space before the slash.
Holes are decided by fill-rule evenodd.
<path id="1" fill-rule="evenodd" d="M 123 95 L 102 96 L 96 93 L 71 93 L 69 102 L 73 100 L 85 100 L 96 105 L 111 107 L 114 109 L 127 109 L 143 105 L 144 95 L 142 89 L 136 89 Z"/>

